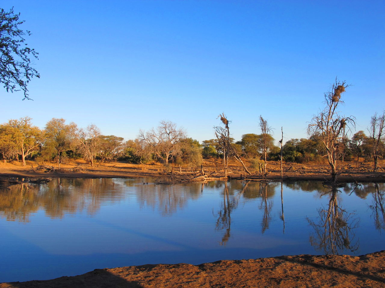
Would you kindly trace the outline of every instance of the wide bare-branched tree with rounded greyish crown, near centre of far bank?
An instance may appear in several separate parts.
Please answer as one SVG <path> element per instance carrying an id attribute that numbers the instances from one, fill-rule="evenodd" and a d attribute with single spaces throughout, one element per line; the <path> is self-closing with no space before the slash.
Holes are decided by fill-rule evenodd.
<path id="1" fill-rule="evenodd" d="M 139 131 L 138 139 L 141 144 L 140 156 L 155 154 L 167 165 L 171 157 L 181 153 L 186 138 L 186 131 L 183 128 L 177 128 L 171 121 L 161 121 L 156 130 L 144 132 Z"/>

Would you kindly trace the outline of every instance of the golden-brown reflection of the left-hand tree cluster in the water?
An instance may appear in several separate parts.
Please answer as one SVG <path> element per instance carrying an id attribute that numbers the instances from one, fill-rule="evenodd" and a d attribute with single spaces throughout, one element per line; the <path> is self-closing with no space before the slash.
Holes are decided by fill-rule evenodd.
<path id="1" fill-rule="evenodd" d="M 55 179 L 47 184 L 15 184 L 0 190 L 0 216 L 8 221 L 29 222 L 44 210 L 51 218 L 86 212 L 94 216 L 102 203 L 124 198 L 122 185 L 113 179 Z"/>

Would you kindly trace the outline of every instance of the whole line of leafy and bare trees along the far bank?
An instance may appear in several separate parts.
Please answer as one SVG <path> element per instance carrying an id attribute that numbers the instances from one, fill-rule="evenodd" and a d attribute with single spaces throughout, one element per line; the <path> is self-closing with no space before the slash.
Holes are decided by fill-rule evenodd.
<path id="1" fill-rule="evenodd" d="M 62 118 L 52 118 L 40 129 L 33 126 L 31 118 L 24 117 L 0 125 L 0 156 L 4 162 L 21 160 L 24 166 L 26 159 L 56 161 L 59 168 L 68 158 L 83 158 L 90 166 L 117 159 L 132 163 L 159 161 L 179 169 L 182 165 L 199 167 L 202 159 L 219 158 L 225 175 L 230 159 L 237 160 L 250 175 L 251 169 L 266 175 L 268 161 L 328 162 L 333 177 L 337 174 L 337 161 L 358 162 L 365 157 L 373 159 L 373 169 L 377 170 L 385 149 L 385 113 L 372 116 L 368 134 L 358 131 L 349 138 L 355 118 L 341 116 L 337 110 L 346 87 L 345 82 L 336 81 L 324 94 L 325 107 L 308 125 L 308 138 L 290 139 L 285 144 L 283 136 L 275 142 L 273 129 L 262 116 L 259 134 L 243 134 L 235 141 L 231 137 L 231 121 L 222 113 L 217 118 L 220 125 L 213 127 L 215 137 L 201 143 L 187 137 L 186 130 L 171 121 L 160 121 L 156 128 L 140 130 L 136 139 L 124 141 L 122 137 L 102 135 L 95 125 L 78 128 L 74 122 L 67 124 Z"/>

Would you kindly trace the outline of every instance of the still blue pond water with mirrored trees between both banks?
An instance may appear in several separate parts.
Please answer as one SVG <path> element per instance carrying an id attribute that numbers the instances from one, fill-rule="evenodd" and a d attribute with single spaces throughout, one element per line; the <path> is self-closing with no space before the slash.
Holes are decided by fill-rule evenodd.
<path id="1" fill-rule="evenodd" d="M 385 249 L 385 184 L 54 179 L 0 189 L 0 282 Z"/>

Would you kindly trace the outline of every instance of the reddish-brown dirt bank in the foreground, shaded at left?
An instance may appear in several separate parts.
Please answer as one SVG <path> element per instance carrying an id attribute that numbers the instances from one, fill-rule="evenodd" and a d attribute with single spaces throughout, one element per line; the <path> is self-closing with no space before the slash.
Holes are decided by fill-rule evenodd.
<path id="1" fill-rule="evenodd" d="M 385 251 L 362 256 L 296 255 L 95 269 L 53 280 L 0 283 L 0 288 L 385 287 Z"/>

